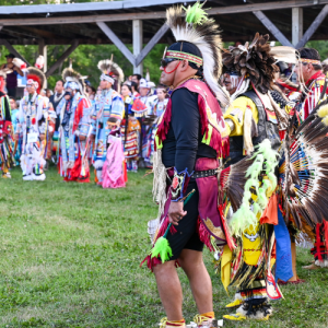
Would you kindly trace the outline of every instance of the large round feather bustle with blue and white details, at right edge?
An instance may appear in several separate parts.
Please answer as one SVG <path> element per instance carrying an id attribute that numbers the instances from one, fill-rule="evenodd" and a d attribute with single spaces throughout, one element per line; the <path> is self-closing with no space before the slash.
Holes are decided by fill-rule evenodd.
<path id="1" fill-rule="evenodd" d="M 321 103 L 321 107 L 327 102 Z M 279 181 L 285 199 L 286 218 L 292 214 L 297 229 L 309 227 L 328 220 L 328 127 L 319 117 L 317 106 L 298 127 L 286 137 L 284 155 L 279 167 Z"/>

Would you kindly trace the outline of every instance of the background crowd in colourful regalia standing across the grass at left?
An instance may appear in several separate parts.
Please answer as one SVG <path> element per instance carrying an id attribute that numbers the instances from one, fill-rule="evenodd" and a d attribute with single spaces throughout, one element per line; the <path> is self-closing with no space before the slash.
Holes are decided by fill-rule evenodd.
<path id="1" fill-rule="evenodd" d="M 117 188 L 125 186 L 127 172 L 152 167 L 156 121 L 167 104 L 164 85 L 140 74 L 125 80 L 107 59 L 98 63 L 99 85 L 68 68 L 52 92 L 43 89 L 46 78 L 37 65 L 22 71 L 11 54 L 8 58 L 1 86 L 12 131 L 4 138 L 2 177 L 11 177 L 9 168 L 20 164 L 24 180 L 44 180 L 54 162 L 66 181 L 89 183 L 92 165 L 98 185 Z M 8 86 L 14 71 L 27 80 L 17 102 L 7 97 L 14 94 Z"/>

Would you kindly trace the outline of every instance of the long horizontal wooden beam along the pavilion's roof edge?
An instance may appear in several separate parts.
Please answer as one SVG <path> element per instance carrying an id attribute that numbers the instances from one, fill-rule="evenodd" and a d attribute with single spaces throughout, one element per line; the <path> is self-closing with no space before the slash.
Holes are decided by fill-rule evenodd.
<path id="1" fill-rule="evenodd" d="M 239 5 L 215 7 L 208 10 L 210 15 L 236 14 L 254 11 L 267 11 L 289 9 L 296 7 L 316 7 L 320 4 L 328 4 L 328 0 L 320 0 L 314 3 L 309 0 L 286 0 L 261 2 Z M 69 5 L 69 4 L 66 4 Z M 80 4 L 78 4 L 80 5 Z M 89 4 L 90 7 L 90 4 Z M 159 20 L 165 19 L 165 11 L 149 11 L 149 12 L 132 12 L 119 14 L 104 14 L 104 15 L 83 15 L 83 16 L 58 16 L 58 17 L 33 17 L 33 19 L 2 19 L 0 25 L 14 26 L 14 25 L 60 25 L 72 23 L 98 23 L 98 22 L 120 22 L 132 20 Z"/>

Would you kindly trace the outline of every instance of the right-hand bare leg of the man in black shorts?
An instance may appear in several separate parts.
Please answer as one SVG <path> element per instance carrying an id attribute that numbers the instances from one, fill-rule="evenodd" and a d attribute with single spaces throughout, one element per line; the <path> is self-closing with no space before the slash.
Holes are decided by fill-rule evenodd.
<path id="1" fill-rule="evenodd" d="M 189 279 L 198 313 L 203 314 L 212 312 L 212 281 L 203 263 L 202 253 L 184 249 L 179 257 L 179 263 Z"/>

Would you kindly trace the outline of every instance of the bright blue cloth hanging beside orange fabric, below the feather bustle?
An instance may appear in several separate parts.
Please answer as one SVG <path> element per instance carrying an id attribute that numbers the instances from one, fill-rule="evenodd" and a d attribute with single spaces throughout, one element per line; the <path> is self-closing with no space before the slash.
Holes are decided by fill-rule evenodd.
<path id="1" fill-rule="evenodd" d="M 291 237 L 279 208 L 278 225 L 274 225 L 274 234 L 277 241 L 276 279 L 288 281 L 294 276 L 292 267 Z"/>

